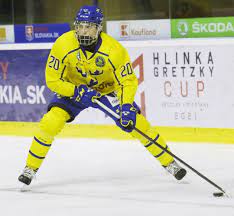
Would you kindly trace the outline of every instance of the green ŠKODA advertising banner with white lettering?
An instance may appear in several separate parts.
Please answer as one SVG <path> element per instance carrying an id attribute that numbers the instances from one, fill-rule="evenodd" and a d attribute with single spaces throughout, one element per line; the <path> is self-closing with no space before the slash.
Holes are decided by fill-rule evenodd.
<path id="1" fill-rule="evenodd" d="M 172 38 L 233 37 L 234 17 L 172 19 Z"/>

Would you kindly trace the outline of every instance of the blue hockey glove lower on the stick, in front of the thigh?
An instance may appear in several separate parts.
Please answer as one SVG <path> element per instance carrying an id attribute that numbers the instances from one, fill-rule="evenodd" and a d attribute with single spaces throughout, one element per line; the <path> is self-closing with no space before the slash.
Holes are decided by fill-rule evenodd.
<path id="1" fill-rule="evenodd" d="M 117 125 L 126 132 L 132 132 L 136 125 L 137 110 L 132 104 L 123 104 L 121 107 L 120 120 Z"/>

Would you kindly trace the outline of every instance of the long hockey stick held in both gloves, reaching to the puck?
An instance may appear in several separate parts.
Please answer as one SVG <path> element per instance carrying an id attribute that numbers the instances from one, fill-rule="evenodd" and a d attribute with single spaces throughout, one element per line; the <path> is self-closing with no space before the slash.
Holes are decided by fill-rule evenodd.
<path id="1" fill-rule="evenodd" d="M 102 107 L 104 110 L 106 110 L 109 114 L 111 114 L 115 118 L 120 119 L 120 116 L 117 113 L 115 113 L 113 110 L 111 110 L 109 107 L 107 107 L 105 104 L 103 104 L 99 100 L 95 99 L 94 102 L 97 103 L 100 107 Z M 162 149 L 163 151 L 165 151 L 166 153 L 168 153 L 169 155 L 171 155 L 173 158 L 177 159 L 180 163 L 184 164 L 186 167 L 188 167 L 190 170 L 192 170 L 198 176 L 200 176 L 205 181 L 207 181 L 208 183 L 210 183 L 211 185 L 213 185 L 214 187 L 216 187 L 219 191 L 221 191 L 221 192 L 213 193 L 214 196 L 223 196 L 223 195 L 225 195 L 227 197 L 230 197 L 230 195 L 228 195 L 223 188 L 221 188 L 220 186 L 218 186 L 216 183 L 214 183 L 213 181 L 211 181 L 209 178 L 207 178 L 206 176 L 204 176 L 202 173 L 198 172 L 196 169 L 194 169 L 192 166 L 190 166 L 185 161 L 183 161 L 182 159 L 180 159 L 178 156 L 176 156 L 172 152 L 168 151 L 166 148 L 164 148 L 159 143 L 157 143 L 156 141 L 154 141 L 152 138 L 150 138 L 148 135 L 146 135 L 145 133 L 143 133 L 141 130 L 139 130 L 136 127 L 134 127 L 134 130 L 137 131 L 139 134 L 141 134 L 144 138 L 146 138 L 150 142 L 152 142 L 155 145 L 157 145 L 160 149 Z"/>

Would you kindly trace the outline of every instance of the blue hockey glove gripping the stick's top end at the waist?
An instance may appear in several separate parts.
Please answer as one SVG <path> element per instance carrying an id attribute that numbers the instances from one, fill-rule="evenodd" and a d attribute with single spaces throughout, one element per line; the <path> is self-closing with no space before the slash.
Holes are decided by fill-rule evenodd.
<path id="1" fill-rule="evenodd" d="M 93 101 L 94 99 L 100 98 L 101 94 L 94 89 L 87 87 L 86 85 L 79 85 L 75 88 L 73 99 L 84 105 L 86 108 L 94 107 L 98 105 Z"/>

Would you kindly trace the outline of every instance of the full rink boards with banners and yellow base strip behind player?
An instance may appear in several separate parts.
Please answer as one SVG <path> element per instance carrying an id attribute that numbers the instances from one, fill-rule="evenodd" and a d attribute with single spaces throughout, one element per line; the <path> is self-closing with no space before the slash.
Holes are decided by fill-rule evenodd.
<path id="1" fill-rule="evenodd" d="M 123 44 L 138 76 L 136 102 L 166 139 L 234 143 L 234 39 Z M 52 93 L 45 85 L 44 68 L 51 46 L 1 45 L 1 134 L 30 135 L 37 124 L 32 122 L 46 112 Z M 62 135 L 129 138 L 92 109 L 82 112 Z"/>

